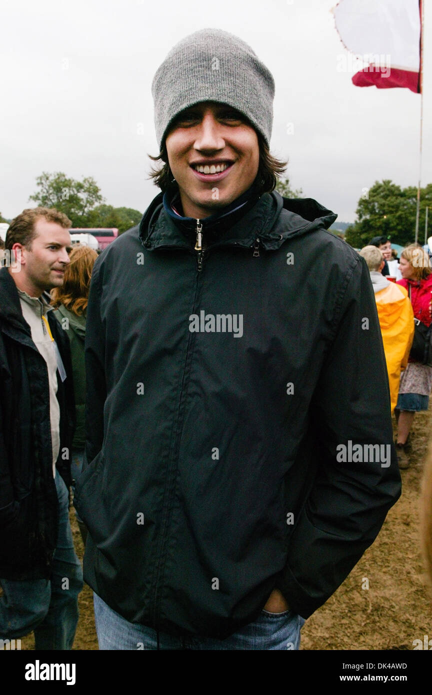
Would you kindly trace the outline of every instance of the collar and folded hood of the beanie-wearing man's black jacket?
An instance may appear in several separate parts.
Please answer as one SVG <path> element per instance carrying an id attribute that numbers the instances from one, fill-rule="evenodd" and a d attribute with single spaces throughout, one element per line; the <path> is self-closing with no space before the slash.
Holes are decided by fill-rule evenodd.
<path id="1" fill-rule="evenodd" d="M 279 193 L 264 193 L 252 206 L 245 204 L 228 215 L 212 215 L 200 220 L 206 249 L 217 245 L 279 248 L 285 239 L 308 234 L 317 228 L 329 229 L 338 215 L 312 198 L 283 198 Z M 167 213 L 163 193 L 156 196 L 140 222 L 139 235 L 148 250 L 160 247 L 193 249 L 197 220 Z"/>

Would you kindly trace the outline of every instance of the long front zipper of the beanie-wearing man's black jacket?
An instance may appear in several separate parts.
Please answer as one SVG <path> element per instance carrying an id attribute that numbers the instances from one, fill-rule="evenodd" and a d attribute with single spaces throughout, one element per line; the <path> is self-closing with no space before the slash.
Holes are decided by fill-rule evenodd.
<path id="1" fill-rule="evenodd" d="M 201 234 L 201 228 L 202 225 L 199 224 L 199 220 L 197 220 L 197 234 Z M 199 229 L 199 232 L 198 232 Z M 198 256 L 198 258 L 201 260 L 201 266 L 200 264 L 198 265 L 198 272 L 201 272 L 202 270 L 202 253 L 203 249 L 201 247 L 201 238 L 199 238 L 200 242 L 200 248 L 197 249 L 197 252 L 201 256 Z M 198 243 L 198 236 L 197 236 L 197 243 Z M 183 247 L 182 247 L 183 248 Z M 195 306 L 197 304 L 197 295 L 198 295 L 198 287 L 199 287 L 199 274 L 197 272 L 196 276 L 196 283 L 195 283 L 195 293 L 194 293 L 194 300 L 192 303 L 192 313 L 195 311 Z M 155 589 L 154 589 L 154 600 L 153 600 L 153 626 L 155 630 L 158 630 L 158 625 L 159 625 L 159 616 L 158 616 L 158 603 L 159 603 L 159 582 L 163 578 L 163 574 L 165 573 L 165 562 L 166 562 L 166 556 L 167 556 L 167 550 L 166 548 L 166 541 L 167 541 L 167 536 L 168 536 L 168 530 L 169 530 L 169 517 L 170 517 L 170 511 L 169 511 L 169 501 L 172 499 L 172 497 L 175 494 L 175 485 L 176 485 L 176 470 L 178 468 L 178 455 L 179 455 L 179 443 L 181 441 L 181 434 L 183 432 L 183 420 L 184 420 L 184 408 L 182 411 L 183 407 L 183 402 L 184 402 L 184 393 L 185 393 L 185 373 L 186 369 L 188 368 L 188 361 L 189 361 L 189 354 L 190 354 L 190 341 L 192 339 L 192 333 L 188 331 L 188 345 L 186 347 L 186 354 L 185 354 L 185 361 L 183 365 L 183 375 L 181 377 L 181 391 L 180 391 L 180 398 L 178 399 L 178 409 L 177 409 L 177 423 L 176 423 L 176 432 L 175 432 L 175 438 L 174 438 L 174 450 L 173 450 L 173 455 L 172 455 L 172 461 L 171 461 L 171 466 L 169 468 L 168 474 L 167 474 L 167 479 L 168 479 L 168 485 L 167 489 L 165 491 L 165 500 L 164 500 L 164 518 L 163 518 L 163 529 L 161 533 L 161 538 L 160 542 L 158 544 L 158 553 L 156 555 L 156 578 L 155 578 Z"/>

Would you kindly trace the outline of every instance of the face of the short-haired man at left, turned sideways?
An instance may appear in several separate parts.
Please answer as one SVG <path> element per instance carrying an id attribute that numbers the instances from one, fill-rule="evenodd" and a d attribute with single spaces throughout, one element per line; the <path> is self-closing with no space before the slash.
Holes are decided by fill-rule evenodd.
<path id="1" fill-rule="evenodd" d="M 71 239 L 67 229 L 44 218 L 36 220 L 34 230 L 37 236 L 31 248 L 20 244 L 13 247 L 21 249 L 20 288 L 31 297 L 40 297 L 42 292 L 63 285 Z"/>

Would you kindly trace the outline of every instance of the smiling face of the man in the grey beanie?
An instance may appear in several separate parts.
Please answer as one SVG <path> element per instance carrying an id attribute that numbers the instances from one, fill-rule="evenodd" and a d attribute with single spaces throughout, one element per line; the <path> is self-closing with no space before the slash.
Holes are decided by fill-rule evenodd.
<path id="1" fill-rule="evenodd" d="M 258 173 L 256 132 L 226 104 L 205 101 L 182 111 L 166 147 L 185 217 L 213 215 L 250 188 Z"/>

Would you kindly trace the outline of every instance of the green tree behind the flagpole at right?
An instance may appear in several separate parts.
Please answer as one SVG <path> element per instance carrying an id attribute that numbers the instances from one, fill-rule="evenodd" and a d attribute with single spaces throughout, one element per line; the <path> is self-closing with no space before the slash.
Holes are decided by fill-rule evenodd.
<path id="1" fill-rule="evenodd" d="M 420 189 L 419 243 L 424 240 L 426 206 L 432 208 L 432 183 Z M 390 179 L 375 181 L 365 189 L 356 209 L 357 221 L 348 227 L 345 240 L 361 248 L 374 236 L 388 236 L 403 246 L 414 242 L 417 188 L 401 188 Z"/>

